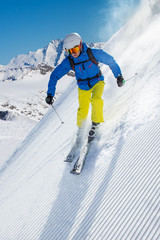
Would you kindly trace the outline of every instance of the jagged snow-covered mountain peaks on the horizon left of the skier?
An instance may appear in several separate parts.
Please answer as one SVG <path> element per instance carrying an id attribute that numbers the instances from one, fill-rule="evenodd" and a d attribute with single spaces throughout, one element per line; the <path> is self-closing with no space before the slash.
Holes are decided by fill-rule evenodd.
<path id="1" fill-rule="evenodd" d="M 63 42 L 54 40 L 47 47 L 29 52 L 26 55 L 18 55 L 7 66 L 0 68 L 0 80 L 22 79 L 27 74 L 40 71 L 45 74 L 52 71 L 57 65 L 61 55 L 64 55 Z"/>

